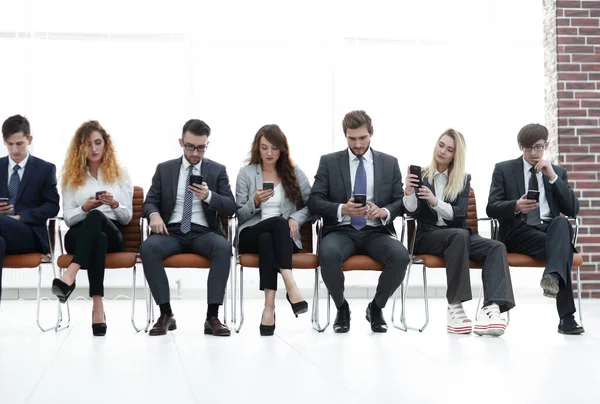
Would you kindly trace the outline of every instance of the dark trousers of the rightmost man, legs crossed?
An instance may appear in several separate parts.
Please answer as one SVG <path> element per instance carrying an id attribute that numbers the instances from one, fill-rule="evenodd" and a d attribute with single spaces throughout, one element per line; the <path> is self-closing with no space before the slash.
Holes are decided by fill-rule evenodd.
<path id="1" fill-rule="evenodd" d="M 571 267 L 573 265 L 573 227 L 565 216 L 557 216 L 540 226 L 521 225 L 506 238 L 508 252 L 546 260 L 544 274 L 556 274 L 560 289 L 556 310 L 560 318 L 575 313 Z"/>

